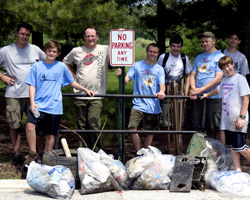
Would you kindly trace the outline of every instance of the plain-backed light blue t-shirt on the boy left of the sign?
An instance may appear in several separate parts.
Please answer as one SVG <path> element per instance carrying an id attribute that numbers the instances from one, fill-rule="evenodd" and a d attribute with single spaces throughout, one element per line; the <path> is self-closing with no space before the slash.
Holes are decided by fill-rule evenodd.
<path id="1" fill-rule="evenodd" d="M 73 82 L 66 65 L 58 61 L 33 64 L 25 80 L 26 84 L 36 87 L 35 103 L 38 109 L 54 115 L 63 114 L 61 87 Z"/>

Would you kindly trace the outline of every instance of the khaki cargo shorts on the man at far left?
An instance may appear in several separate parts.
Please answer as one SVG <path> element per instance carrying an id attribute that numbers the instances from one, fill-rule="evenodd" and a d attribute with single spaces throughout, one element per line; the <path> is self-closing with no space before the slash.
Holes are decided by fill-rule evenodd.
<path id="1" fill-rule="evenodd" d="M 23 113 L 28 116 L 30 99 L 29 98 L 6 98 L 6 119 L 9 127 L 18 129 L 21 125 Z"/>

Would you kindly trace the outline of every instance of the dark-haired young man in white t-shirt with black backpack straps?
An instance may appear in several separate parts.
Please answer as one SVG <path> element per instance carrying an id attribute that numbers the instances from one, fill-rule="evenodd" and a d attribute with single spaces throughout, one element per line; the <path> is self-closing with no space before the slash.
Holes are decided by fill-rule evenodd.
<path id="1" fill-rule="evenodd" d="M 185 96 L 187 96 L 190 87 L 190 73 L 192 71 L 192 65 L 190 64 L 188 57 L 185 54 L 180 53 L 183 47 L 183 39 L 181 38 L 181 36 L 173 35 L 170 38 L 169 47 L 171 49 L 171 52 L 160 55 L 157 64 L 161 65 L 164 68 L 166 85 L 169 84 L 169 81 L 176 81 L 179 83 L 180 88 L 181 79 L 184 77 L 184 75 L 186 76 L 184 93 Z M 166 58 L 166 56 L 168 56 L 168 58 Z M 161 129 L 168 130 L 167 99 L 161 100 L 161 108 Z M 163 149 L 162 153 L 169 154 L 168 134 L 164 134 L 163 139 L 165 148 Z"/>

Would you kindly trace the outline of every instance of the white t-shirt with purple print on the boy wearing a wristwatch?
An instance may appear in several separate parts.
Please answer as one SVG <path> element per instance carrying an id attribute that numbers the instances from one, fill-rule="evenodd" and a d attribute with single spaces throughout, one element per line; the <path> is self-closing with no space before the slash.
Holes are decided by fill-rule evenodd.
<path id="1" fill-rule="evenodd" d="M 231 77 L 223 77 L 219 86 L 219 94 L 222 96 L 221 130 L 247 133 L 248 112 L 242 129 L 236 128 L 236 121 L 240 117 L 242 96 L 249 95 L 250 89 L 247 80 L 240 74 Z"/>

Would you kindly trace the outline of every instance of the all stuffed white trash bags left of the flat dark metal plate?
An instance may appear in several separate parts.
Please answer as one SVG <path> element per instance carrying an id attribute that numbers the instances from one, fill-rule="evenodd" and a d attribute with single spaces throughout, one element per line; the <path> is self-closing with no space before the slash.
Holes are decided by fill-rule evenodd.
<path id="1" fill-rule="evenodd" d="M 89 148 L 78 148 L 80 194 L 109 190 L 169 189 L 175 156 L 163 155 L 150 146 L 137 152 L 137 157 L 125 165 L 107 155 Z M 70 199 L 75 190 L 75 179 L 67 167 L 47 166 L 34 161 L 28 167 L 26 180 L 34 190 L 54 198 Z"/>

